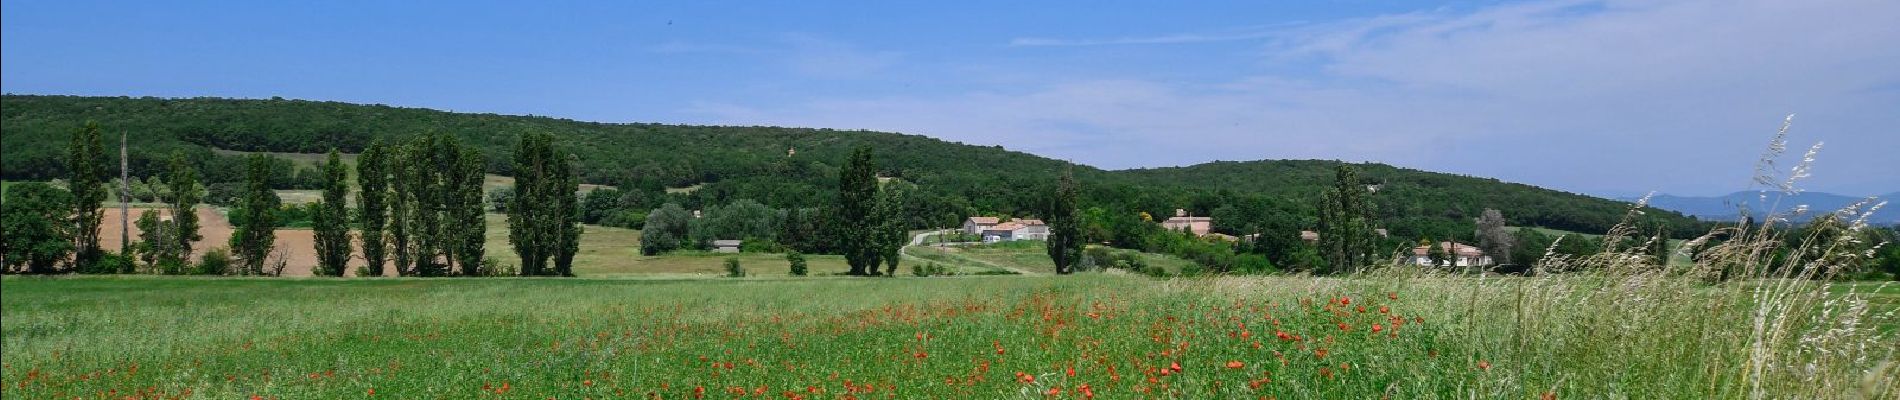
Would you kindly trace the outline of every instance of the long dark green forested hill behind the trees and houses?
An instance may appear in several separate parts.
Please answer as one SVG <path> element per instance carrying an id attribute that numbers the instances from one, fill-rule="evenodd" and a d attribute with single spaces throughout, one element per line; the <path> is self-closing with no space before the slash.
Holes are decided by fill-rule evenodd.
<path id="1" fill-rule="evenodd" d="M 585 182 L 619 186 L 652 207 L 756 199 L 771 207 L 817 207 L 836 193 L 836 169 L 851 148 L 876 148 L 882 176 L 920 186 L 908 214 L 916 226 L 952 226 L 967 214 L 1034 216 L 1056 173 L 1070 163 L 999 146 L 971 146 L 918 135 L 657 123 L 591 123 L 538 116 L 456 114 L 424 108 L 315 100 L 0 97 L 0 178 L 46 180 L 65 174 L 68 135 L 99 121 L 108 136 L 129 133 L 133 174 L 150 176 L 171 152 L 186 152 L 209 182 L 238 180 L 245 152 L 357 152 L 370 140 L 450 133 L 488 155 L 488 173 L 509 174 L 522 133 L 553 133 L 580 159 Z M 1214 214 L 1216 229 L 1311 227 L 1334 161 L 1206 163 L 1174 169 L 1098 171 L 1074 165 L 1087 190 L 1083 207 L 1113 214 L 1174 209 Z M 1376 195 L 1383 226 L 1396 237 L 1471 235 L 1482 209 L 1505 210 L 1524 226 L 1604 231 L 1623 203 L 1389 165 L 1358 165 L 1385 186 Z M 667 193 L 667 188 L 674 188 Z M 678 188 L 695 188 L 682 191 Z M 1281 218 L 1281 220 L 1275 220 Z M 1645 218 L 1693 231 L 1697 222 L 1651 210 Z M 1687 233 L 1683 233 L 1687 235 Z"/>

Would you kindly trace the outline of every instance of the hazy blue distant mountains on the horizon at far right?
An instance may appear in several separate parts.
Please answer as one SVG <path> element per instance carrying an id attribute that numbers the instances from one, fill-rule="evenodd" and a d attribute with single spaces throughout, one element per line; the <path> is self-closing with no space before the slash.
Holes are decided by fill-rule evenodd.
<path id="1" fill-rule="evenodd" d="M 1900 224 L 1900 191 L 1875 195 L 1881 201 L 1896 201 L 1868 218 L 1873 224 Z M 1803 191 L 1796 195 L 1782 195 L 1776 191 L 1767 193 L 1763 201 L 1761 191 L 1735 191 L 1727 195 L 1697 197 L 1697 195 L 1655 195 L 1649 197 L 1649 207 L 1676 210 L 1682 214 L 1697 216 L 1702 220 L 1738 220 L 1742 209 L 1752 216 L 1759 218 L 1765 212 L 1794 210 L 1796 207 L 1807 205 L 1809 212 L 1799 220 L 1813 218 L 1822 212 L 1847 209 L 1866 197 L 1837 195 L 1826 191 Z M 1636 197 L 1623 197 L 1623 201 L 1636 201 Z"/>

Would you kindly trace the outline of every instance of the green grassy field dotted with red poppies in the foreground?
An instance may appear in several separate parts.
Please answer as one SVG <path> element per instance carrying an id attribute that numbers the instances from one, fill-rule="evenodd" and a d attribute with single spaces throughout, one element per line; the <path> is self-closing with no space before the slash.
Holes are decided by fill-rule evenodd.
<path id="1" fill-rule="evenodd" d="M 1723 296 L 1746 290 L 1594 277 L 6 277 L 0 288 L 6 398 L 1079 398 L 1083 387 L 1744 398 L 1750 379 L 1767 398 L 1892 398 L 1900 385 L 1872 370 L 1896 356 L 1890 330 L 1807 345 L 1847 353 L 1801 353 L 1841 326 L 1794 318 L 1776 330 L 1792 337 L 1750 339 L 1750 307 Z M 1756 345 L 1775 358 L 1752 377 Z"/>

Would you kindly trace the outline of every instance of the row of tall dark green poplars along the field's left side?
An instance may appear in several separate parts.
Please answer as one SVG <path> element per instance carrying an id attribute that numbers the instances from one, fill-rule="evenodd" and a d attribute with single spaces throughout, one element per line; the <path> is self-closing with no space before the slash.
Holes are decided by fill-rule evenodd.
<path id="1" fill-rule="evenodd" d="M 99 248 L 99 226 L 106 212 L 103 205 L 112 193 L 125 195 L 125 188 L 106 188 L 108 161 L 99 123 L 87 121 L 74 131 L 68 146 L 70 180 L 65 191 L 42 188 L 44 184 L 13 190 L 19 193 L 8 195 L 8 241 L 0 245 L 0 269 L 11 271 L 15 264 L 25 264 L 25 273 L 133 273 L 135 265 L 129 262 L 112 265 L 114 271 L 97 267 L 106 254 Z M 350 169 L 331 150 L 321 165 L 323 199 L 310 205 L 315 275 L 342 277 L 350 271 L 352 226 L 361 229 L 355 245 L 363 248 L 367 265 L 359 275 L 382 277 L 390 269 L 403 277 L 504 273 L 492 271 L 483 248 L 484 165 L 481 150 L 464 146 L 452 135 L 431 133 L 399 144 L 374 140 L 355 165 L 357 212 L 352 214 Z M 272 167 L 270 155 L 251 155 L 247 161 L 245 186 L 232 209 L 234 269 L 201 273 L 276 273 L 268 271 L 266 262 L 276 252 L 274 231 L 283 201 L 268 186 Z M 517 195 L 507 207 L 509 245 L 521 254 L 521 275 L 572 277 L 581 233 L 574 157 L 557 150 L 551 135 L 524 135 L 515 150 L 515 171 Z M 184 265 L 192 243 L 203 239 L 194 212 L 203 201 L 203 186 L 184 154 L 171 155 L 162 178 L 171 186 L 173 195 L 165 203 L 173 218 L 163 220 L 156 210 L 146 210 L 137 224 L 142 231 L 137 252 L 148 264 Z M 21 199 L 19 205 L 13 199 Z M 19 212 L 11 212 L 15 209 Z M 129 237 L 122 243 L 125 246 L 120 254 L 129 258 L 135 246 Z M 281 262 L 281 256 L 276 260 Z"/>

